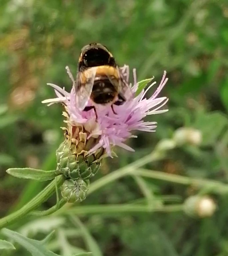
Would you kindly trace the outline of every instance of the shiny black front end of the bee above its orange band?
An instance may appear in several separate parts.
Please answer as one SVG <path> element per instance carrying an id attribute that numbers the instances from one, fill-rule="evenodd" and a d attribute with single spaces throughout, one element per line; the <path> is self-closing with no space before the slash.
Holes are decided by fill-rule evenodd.
<path id="1" fill-rule="evenodd" d="M 98 43 L 91 43 L 82 48 L 79 57 L 79 70 L 96 66 L 116 66 L 115 59 L 108 49 Z"/>

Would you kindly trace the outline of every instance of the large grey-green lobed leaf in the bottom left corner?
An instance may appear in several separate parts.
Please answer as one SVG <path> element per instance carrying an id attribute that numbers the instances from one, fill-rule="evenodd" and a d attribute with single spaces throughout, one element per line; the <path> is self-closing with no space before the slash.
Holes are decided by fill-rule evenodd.
<path id="1" fill-rule="evenodd" d="M 50 239 L 50 236 L 53 235 L 53 232 L 41 241 L 27 238 L 15 231 L 12 231 L 12 230 L 9 230 L 6 228 L 2 229 L 2 233 L 4 235 L 6 235 L 7 237 L 13 239 L 17 243 L 19 243 L 25 249 L 27 249 L 32 254 L 32 256 L 60 256 L 59 254 L 51 252 L 44 247 L 44 243 Z M 77 256 L 87 256 L 87 255 L 91 255 L 91 254 L 90 253 L 89 254 L 88 253 L 77 254 Z M 74 255 L 74 256 L 76 256 L 76 255 Z"/>

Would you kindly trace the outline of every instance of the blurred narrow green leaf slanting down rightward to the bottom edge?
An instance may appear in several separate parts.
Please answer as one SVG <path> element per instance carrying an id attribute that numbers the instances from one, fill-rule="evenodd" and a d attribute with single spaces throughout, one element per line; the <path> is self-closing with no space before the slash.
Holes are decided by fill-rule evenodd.
<path id="1" fill-rule="evenodd" d="M 84 224 L 80 221 L 80 219 L 71 215 L 71 220 L 73 223 L 75 223 L 77 226 L 80 227 L 82 234 L 84 236 L 84 239 L 85 239 L 85 243 L 87 244 L 89 250 L 92 252 L 93 256 L 103 256 L 97 242 L 90 235 L 89 231 L 84 226 Z"/>

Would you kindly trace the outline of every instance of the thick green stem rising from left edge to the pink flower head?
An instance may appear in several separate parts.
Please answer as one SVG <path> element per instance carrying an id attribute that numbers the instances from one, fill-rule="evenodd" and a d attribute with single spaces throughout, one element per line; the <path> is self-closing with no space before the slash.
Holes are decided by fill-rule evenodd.
<path id="1" fill-rule="evenodd" d="M 64 180 L 65 178 L 63 177 L 63 175 L 58 176 L 57 177 L 58 186 L 60 186 L 64 182 Z M 20 218 L 25 217 L 29 212 L 36 209 L 39 205 L 45 202 L 55 192 L 55 183 L 56 181 L 53 180 L 46 186 L 46 188 L 44 188 L 38 195 L 36 195 L 31 201 L 29 201 L 22 208 L 0 219 L 0 229 L 3 227 L 9 226 L 10 224 L 17 221 Z"/>

